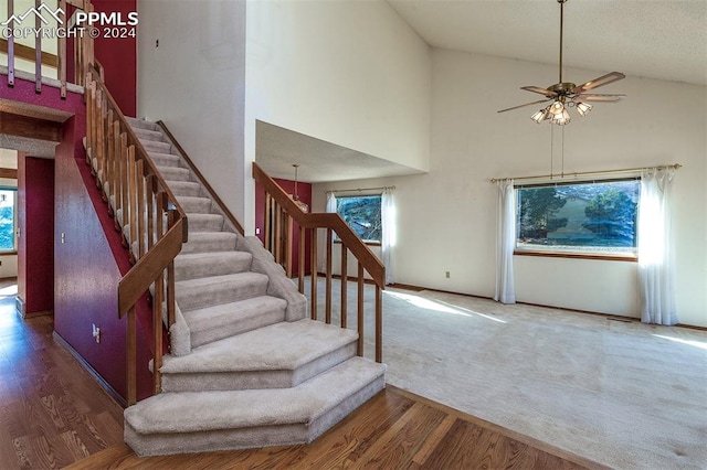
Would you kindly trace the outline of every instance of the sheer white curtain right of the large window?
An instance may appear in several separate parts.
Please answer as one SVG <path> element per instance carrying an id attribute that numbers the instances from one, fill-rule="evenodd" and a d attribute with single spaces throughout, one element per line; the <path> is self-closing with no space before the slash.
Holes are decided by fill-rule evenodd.
<path id="1" fill-rule="evenodd" d="M 641 321 L 675 324 L 675 260 L 671 199 L 673 169 L 646 169 L 639 204 L 639 285 Z"/>

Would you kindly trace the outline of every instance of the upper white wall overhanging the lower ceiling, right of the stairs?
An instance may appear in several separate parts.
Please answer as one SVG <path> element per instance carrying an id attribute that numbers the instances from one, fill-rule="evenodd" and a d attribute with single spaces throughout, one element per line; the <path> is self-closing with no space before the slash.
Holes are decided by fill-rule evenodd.
<path id="1" fill-rule="evenodd" d="M 247 161 L 262 120 L 428 170 L 430 47 L 387 2 L 249 1 L 246 47 Z"/>

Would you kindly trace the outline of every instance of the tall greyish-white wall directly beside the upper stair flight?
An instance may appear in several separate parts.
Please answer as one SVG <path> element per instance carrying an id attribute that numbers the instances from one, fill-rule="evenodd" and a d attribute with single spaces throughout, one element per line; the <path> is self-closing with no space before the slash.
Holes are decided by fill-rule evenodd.
<path id="1" fill-rule="evenodd" d="M 138 116 L 165 121 L 242 222 L 245 2 L 150 0 L 138 13 Z"/>

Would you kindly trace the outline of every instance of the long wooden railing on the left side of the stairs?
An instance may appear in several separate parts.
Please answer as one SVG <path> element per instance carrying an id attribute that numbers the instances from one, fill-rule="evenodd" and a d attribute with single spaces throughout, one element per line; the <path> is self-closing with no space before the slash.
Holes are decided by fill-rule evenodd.
<path id="1" fill-rule="evenodd" d="M 118 316 L 127 314 L 127 403 L 137 402 L 136 305 L 154 286 L 152 392 L 161 392 L 162 309 L 175 323 L 175 257 L 187 242 L 187 216 L 115 103 L 95 67 L 86 78 L 86 149 L 97 184 L 135 265 L 118 285 Z"/>

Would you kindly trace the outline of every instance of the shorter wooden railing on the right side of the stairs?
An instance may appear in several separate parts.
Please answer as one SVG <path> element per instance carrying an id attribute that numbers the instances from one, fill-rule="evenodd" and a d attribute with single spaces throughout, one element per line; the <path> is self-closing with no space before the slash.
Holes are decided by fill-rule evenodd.
<path id="1" fill-rule="evenodd" d="M 333 256 L 331 246 L 334 234 L 341 242 L 341 312 L 340 325 L 347 328 L 347 286 L 348 286 L 348 252 L 358 261 L 358 345 L 357 354 L 363 355 L 363 286 L 365 273 L 367 271 L 376 286 L 376 361 L 382 362 L 382 290 L 386 288 L 386 268 L 370 248 L 354 233 L 339 214 L 334 213 L 306 213 L 295 201 L 270 177 L 257 163 L 253 162 L 253 178 L 265 189 L 265 248 L 273 253 L 275 260 L 287 265 L 292 258 L 293 244 L 293 221 L 299 226 L 299 291 L 304 293 L 305 278 L 305 235 L 306 231 L 312 234 L 312 300 L 310 317 L 317 319 L 317 231 L 326 231 L 326 273 L 325 273 L 325 314 L 324 320 L 331 323 L 331 280 L 333 280 Z M 273 221 L 271 226 L 270 221 Z M 271 237 L 271 231 L 273 237 Z M 271 242 L 271 238 L 273 242 Z M 287 260 L 287 261 L 285 261 Z M 286 268 L 286 271 L 291 269 Z"/>

